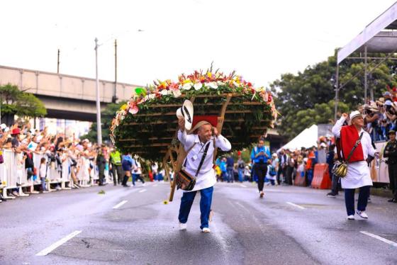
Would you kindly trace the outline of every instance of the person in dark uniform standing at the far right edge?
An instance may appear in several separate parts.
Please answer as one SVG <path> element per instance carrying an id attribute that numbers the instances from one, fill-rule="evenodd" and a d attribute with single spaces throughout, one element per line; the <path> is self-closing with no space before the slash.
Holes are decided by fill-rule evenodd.
<path id="1" fill-rule="evenodd" d="M 388 200 L 390 203 L 397 203 L 397 141 L 396 132 L 394 130 L 388 131 L 389 141 L 384 149 L 384 157 L 388 157 L 388 179 L 390 179 L 390 189 L 393 193 L 393 198 Z"/>

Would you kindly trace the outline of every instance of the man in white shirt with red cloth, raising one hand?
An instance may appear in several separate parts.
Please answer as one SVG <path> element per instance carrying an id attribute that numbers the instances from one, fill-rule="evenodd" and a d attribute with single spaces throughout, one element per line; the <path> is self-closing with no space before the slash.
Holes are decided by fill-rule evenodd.
<path id="1" fill-rule="evenodd" d="M 362 114 L 359 113 L 359 111 L 353 111 L 350 113 L 352 125 L 342 126 L 347 118 L 349 118 L 349 116 L 343 113 L 342 117 L 337 120 L 332 128 L 332 133 L 335 137 L 340 138 L 342 145 L 342 150 L 338 153 L 338 157 L 342 155 L 344 159 L 347 159 L 354 142 L 356 142 L 359 139 L 359 135 L 362 134 L 361 144 L 358 145 L 352 153 L 352 158 L 354 159 L 350 159 L 347 164 L 347 174 L 344 178 L 341 178 L 342 188 L 345 190 L 347 219 L 354 220 L 354 190 L 356 188 L 359 188 L 357 214 L 361 218 L 368 219 L 365 209 L 367 208 L 369 188 L 372 186 L 372 180 L 366 159 L 368 155 L 374 157 L 375 150 L 371 145 L 371 137 L 363 130 L 364 118 Z M 343 137 L 341 137 L 341 135 Z M 347 145 L 349 145 L 348 148 L 346 147 Z"/>

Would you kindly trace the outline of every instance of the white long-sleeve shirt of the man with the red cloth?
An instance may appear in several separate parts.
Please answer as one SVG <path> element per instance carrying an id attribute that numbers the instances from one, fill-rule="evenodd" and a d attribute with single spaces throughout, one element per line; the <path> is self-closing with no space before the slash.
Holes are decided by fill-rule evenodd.
<path id="1" fill-rule="evenodd" d="M 335 137 L 340 137 L 340 130 L 342 129 L 343 123 L 345 123 L 346 118 L 341 117 L 335 123 L 332 128 L 332 133 Z M 361 139 L 362 152 L 364 154 L 364 160 L 367 159 L 368 155 L 374 157 L 375 150 L 371 144 L 371 137 L 367 132 L 361 129 L 357 132 L 358 135 L 364 133 Z M 371 172 L 367 161 L 352 162 L 347 164 L 347 174 L 341 179 L 342 188 L 359 188 L 362 186 L 372 186 Z"/>

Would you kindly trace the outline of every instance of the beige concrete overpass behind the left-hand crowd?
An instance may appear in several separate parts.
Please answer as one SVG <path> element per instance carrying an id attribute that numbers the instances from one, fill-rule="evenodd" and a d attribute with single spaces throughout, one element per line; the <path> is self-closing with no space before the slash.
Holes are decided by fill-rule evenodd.
<path id="1" fill-rule="evenodd" d="M 48 118 L 96 121 L 96 80 L 0 65 L 0 85 L 13 84 L 32 93 L 47 108 Z M 133 84 L 117 83 L 117 102 L 128 100 Z M 112 102 L 114 81 L 99 80 L 101 108 Z"/>

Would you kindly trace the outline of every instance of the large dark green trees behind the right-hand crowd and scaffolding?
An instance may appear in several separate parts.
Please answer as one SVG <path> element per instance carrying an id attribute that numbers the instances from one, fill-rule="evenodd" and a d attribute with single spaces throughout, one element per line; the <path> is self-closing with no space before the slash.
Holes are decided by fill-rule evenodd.
<path id="1" fill-rule="evenodd" d="M 359 56 L 352 55 L 352 56 Z M 382 54 L 371 55 L 385 57 Z M 379 60 L 369 60 L 371 70 Z M 364 103 L 364 63 L 362 60 L 345 60 L 340 64 L 339 112 L 357 109 Z M 349 81 L 355 74 L 357 77 Z M 281 79 L 271 84 L 277 110 L 281 113 L 277 129 L 289 139 L 312 124 L 329 123 L 334 118 L 336 57 L 306 67 L 298 74 L 282 74 Z M 396 86 L 396 65 L 386 60 L 369 75 L 369 88 L 374 89 L 374 98 L 386 91 L 386 86 Z M 347 82 L 349 81 L 349 82 Z M 369 95 L 369 91 L 368 91 Z"/>

